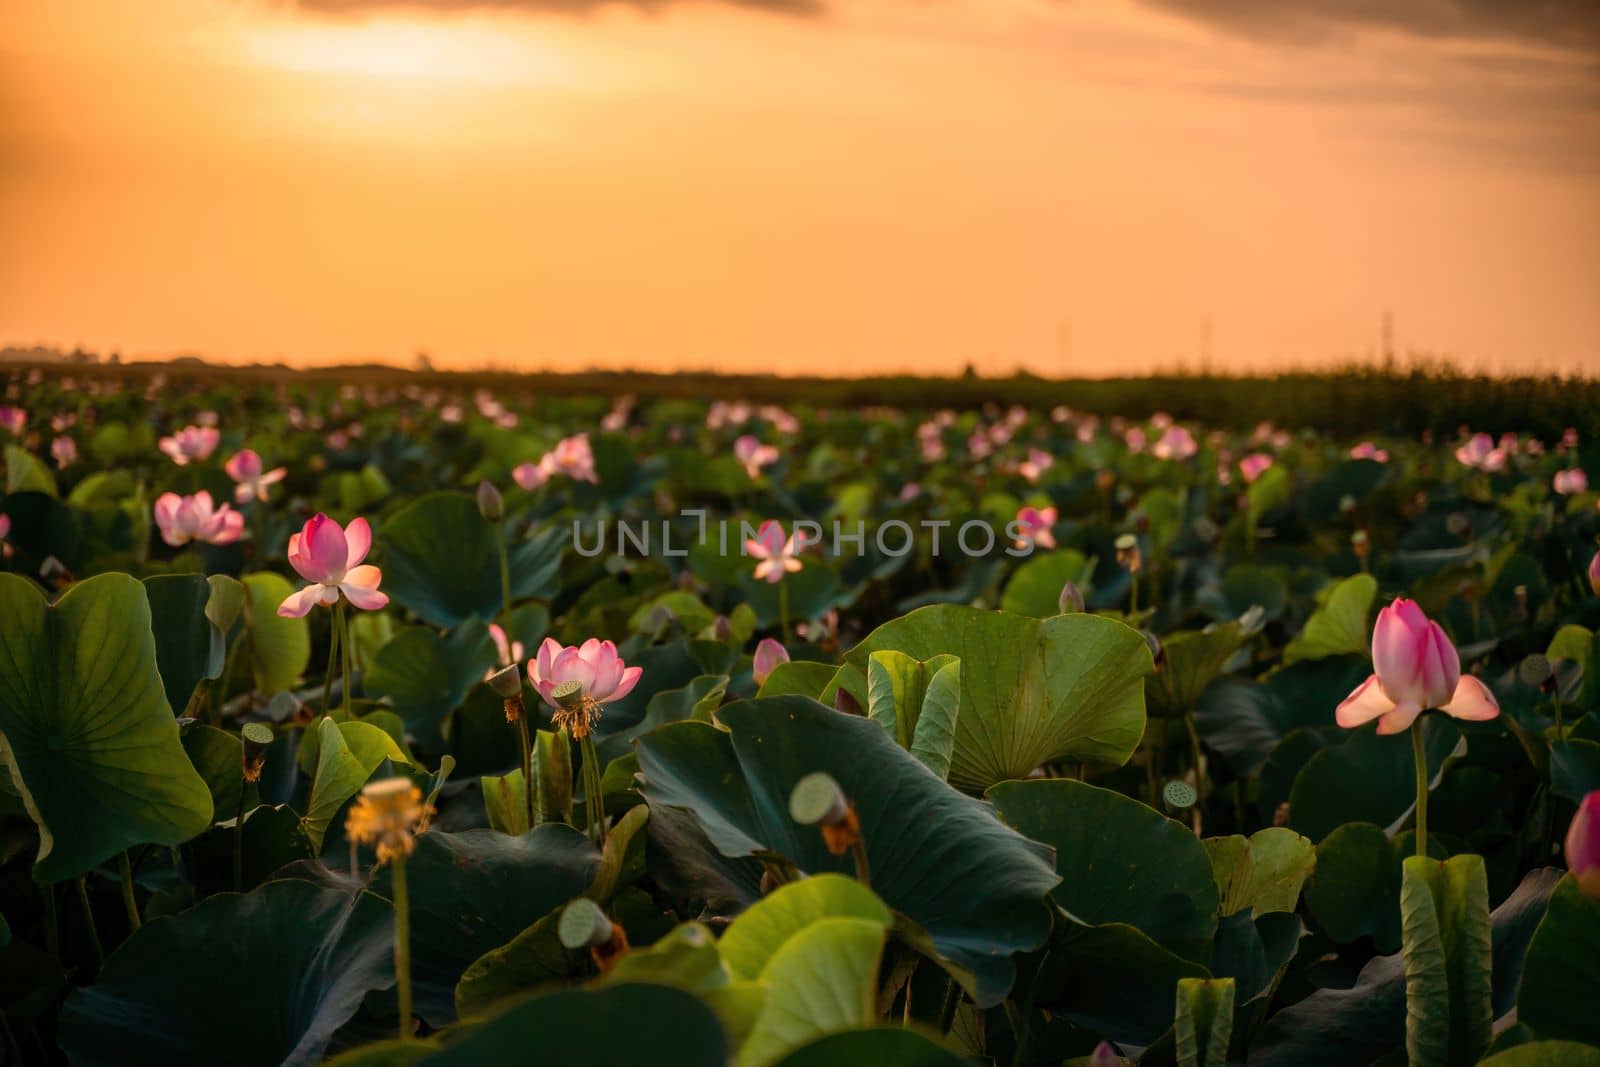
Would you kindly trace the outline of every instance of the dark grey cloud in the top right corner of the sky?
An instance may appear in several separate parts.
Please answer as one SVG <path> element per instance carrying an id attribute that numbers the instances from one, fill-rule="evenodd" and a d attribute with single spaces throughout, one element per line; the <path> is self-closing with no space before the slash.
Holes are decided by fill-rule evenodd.
<path id="1" fill-rule="evenodd" d="M 1317 42 L 1352 29 L 1502 38 L 1600 53 L 1600 0 L 1144 0 L 1213 26 Z"/>

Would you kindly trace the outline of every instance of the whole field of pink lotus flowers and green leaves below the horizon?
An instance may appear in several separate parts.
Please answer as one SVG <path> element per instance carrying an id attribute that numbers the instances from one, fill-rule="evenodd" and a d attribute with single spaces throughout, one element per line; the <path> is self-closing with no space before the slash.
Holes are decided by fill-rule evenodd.
<path id="1" fill-rule="evenodd" d="M 1600 1064 L 1595 443 L 0 406 L 0 1062 Z"/>

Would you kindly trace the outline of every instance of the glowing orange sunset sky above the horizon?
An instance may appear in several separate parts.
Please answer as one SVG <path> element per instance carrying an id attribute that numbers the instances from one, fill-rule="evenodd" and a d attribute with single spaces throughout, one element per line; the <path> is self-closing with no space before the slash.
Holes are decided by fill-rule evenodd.
<path id="1" fill-rule="evenodd" d="M 1600 373 L 1600 19 L 819 2 L 0 0 L 0 344 Z"/>

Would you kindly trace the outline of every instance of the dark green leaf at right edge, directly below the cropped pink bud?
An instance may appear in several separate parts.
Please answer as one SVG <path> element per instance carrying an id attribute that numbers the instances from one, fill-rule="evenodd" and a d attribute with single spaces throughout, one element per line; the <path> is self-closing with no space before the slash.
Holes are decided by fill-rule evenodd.
<path id="1" fill-rule="evenodd" d="M 1600 990 L 1600 901 L 1584 896 L 1578 880 L 1566 875 L 1528 945 L 1517 1021 L 1539 1037 L 1600 1045 L 1595 990 Z"/>

